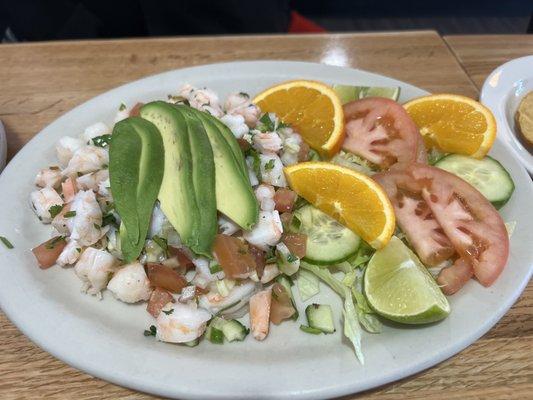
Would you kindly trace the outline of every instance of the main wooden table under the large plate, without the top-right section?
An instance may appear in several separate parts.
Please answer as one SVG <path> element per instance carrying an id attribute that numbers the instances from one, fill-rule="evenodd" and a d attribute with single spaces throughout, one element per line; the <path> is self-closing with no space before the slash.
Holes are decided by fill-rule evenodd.
<path id="1" fill-rule="evenodd" d="M 446 43 L 430 31 L 176 38 L 0 46 L 0 119 L 12 157 L 77 104 L 140 77 L 219 61 L 286 59 L 358 67 L 433 92 L 477 96 Z M 414 377 L 351 398 L 525 399 L 533 392 L 533 290 L 482 339 Z M 0 315 L 0 398 L 145 399 L 37 348 Z"/>

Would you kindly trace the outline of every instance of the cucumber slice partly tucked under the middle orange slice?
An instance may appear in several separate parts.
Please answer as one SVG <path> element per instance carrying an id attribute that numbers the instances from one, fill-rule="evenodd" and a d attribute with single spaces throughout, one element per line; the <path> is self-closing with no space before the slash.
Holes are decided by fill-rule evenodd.
<path id="1" fill-rule="evenodd" d="M 353 256 L 361 243 L 359 236 L 311 205 L 294 212 L 292 227 L 307 235 L 304 260 L 311 264 L 341 263 Z"/>

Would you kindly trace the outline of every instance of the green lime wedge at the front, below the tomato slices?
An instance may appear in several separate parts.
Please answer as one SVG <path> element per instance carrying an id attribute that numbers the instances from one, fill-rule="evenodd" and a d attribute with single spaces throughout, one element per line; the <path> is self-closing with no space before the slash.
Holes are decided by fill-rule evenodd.
<path id="1" fill-rule="evenodd" d="M 450 313 L 450 304 L 431 274 L 395 236 L 368 262 L 364 291 L 370 306 L 392 321 L 426 324 Z"/>

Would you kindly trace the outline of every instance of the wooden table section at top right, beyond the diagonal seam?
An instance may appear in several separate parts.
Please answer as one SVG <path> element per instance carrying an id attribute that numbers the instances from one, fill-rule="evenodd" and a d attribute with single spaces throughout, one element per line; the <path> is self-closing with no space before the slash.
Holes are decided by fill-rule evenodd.
<path id="1" fill-rule="evenodd" d="M 533 55 L 533 35 L 461 35 L 445 36 L 444 40 L 480 90 L 499 65 Z"/>

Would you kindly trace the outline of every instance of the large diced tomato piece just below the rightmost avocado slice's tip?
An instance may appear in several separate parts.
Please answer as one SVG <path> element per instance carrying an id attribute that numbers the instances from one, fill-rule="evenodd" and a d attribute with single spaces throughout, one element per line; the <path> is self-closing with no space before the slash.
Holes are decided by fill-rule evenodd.
<path id="1" fill-rule="evenodd" d="M 245 279 L 256 269 L 254 256 L 242 240 L 223 234 L 215 236 L 213 254 L 230 279 Z"/>

